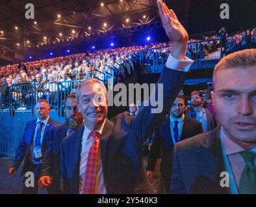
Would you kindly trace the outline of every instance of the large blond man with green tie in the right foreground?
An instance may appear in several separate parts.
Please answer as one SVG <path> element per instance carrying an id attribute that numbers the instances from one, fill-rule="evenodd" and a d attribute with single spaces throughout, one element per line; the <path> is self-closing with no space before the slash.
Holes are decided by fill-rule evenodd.
<path id="1" fill-rule="evenodd" d="M 213 72 L 220 126 L 177 143 L 171 193 L 256 194 L 256 49 L 229 54 Z"/>

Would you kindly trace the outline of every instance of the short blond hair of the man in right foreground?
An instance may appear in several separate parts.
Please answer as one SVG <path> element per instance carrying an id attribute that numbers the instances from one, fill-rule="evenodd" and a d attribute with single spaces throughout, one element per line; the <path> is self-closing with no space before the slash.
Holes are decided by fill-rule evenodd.
<path id="1" fill-rule="evenodd" d="M 230 69 L 237 67 L 246 68 L 251 66 L 256 67 L 256 49 L 241 50 L 229 54 L 220 60 L 214 67 L 213 82 L 215 82 L 214 79 L 216 77 L 216 72 L 218 72 L 220 69 Z"/>

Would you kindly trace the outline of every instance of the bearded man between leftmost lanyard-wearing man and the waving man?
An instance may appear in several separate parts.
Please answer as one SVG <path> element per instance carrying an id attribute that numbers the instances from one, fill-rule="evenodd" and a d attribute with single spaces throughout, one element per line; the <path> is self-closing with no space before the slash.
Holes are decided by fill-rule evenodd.
<path id="1" fill-rule="evenodd" d="M 45 151 L 41 177 L 38 182 L 40 188 L 49 187 L 50 193 L 62 193 L 60 189 L 60 146 L 62 140 L 83 124 L 83 116 L 78 111 L 74 93 L 66 96 L 65 120 L 64 124 L 53 126 L 49 132 L 51 145 Z"/>

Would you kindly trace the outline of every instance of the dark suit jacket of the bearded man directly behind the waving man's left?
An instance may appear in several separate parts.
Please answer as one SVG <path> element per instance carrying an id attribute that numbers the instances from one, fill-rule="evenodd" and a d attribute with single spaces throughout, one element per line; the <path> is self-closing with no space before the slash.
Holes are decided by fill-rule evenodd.
<path id="1" fill-rule="evenodd" d="M 68 125 L 66 123 L 54 125 L 49 131 L 49 136 L 47 136 L 47 142 L 51 144 L 44 154 L 41 176 L 53 177 L 51 184 L 53 193 L 60 192 L 60 147 L 67 131 Z"/>

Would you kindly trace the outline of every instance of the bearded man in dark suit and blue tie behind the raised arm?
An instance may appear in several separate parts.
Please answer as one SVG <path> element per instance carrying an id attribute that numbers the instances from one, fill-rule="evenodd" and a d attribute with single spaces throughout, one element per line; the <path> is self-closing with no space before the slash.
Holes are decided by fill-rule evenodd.
<path id="1" fill-rule="evenodd" d="M 174 144 L 180 140 L 185 140 L 186 138 L 203 133 L 201 123 L 194 118 L 185 116 L 184 109 L 184 96 L 177 96 L 172 104 L 172 108 L 166 121 L 155 133 L 154 141 L 149 151 L 147 162 L 147 175 L 149 180 L 152 179 L 152 174 L 157 162 L 157 158 L 159 157 L 159 153 L 162 153 L 160 180 L 163 183 L 160 184 L 164 184 L 166 193 L 169 193 L 170 190 L 170 182 L 172 177 L 172 153 Z"/>

